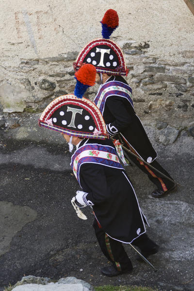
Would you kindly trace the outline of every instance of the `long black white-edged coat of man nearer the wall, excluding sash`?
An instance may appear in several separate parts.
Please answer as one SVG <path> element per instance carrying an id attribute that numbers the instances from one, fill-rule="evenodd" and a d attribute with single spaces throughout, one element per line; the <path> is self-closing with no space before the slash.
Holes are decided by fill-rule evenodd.
<path id="1" fill-rule="evenodd" d="M 112 76 L 106 83 L 110 83 L 110 86 L 112 86 L 112 81 L 127 84 L 121 76 Z M 107 124 L 108 132 L 111 135 L 119 132 L 121 137 L 126 139 L 145 161 L 149 162 L 149 157 L 151 157 L 151 161 L 156 158 L 157 153 L 147 137 L 141 120 L 128 100 L 121 96 L 109 96 L 104 106 L 103 118 Z M 112 132 L 111 128 L 116 128 L 117 131 L 115 132 L 114 129 Z"/>

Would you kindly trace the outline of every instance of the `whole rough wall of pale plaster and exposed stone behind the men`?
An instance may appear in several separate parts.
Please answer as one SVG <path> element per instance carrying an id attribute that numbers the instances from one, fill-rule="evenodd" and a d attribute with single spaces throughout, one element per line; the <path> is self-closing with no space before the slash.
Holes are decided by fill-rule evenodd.
<path id="1" fill-rule="evenodd" d="M 194 16 L 183 0 L 1 0 L 0 118 L 42 111 L 73 93 L 72 63 L 100 37 L 105 11 L 118 12 L 113 32 L 125 53 L 134 106 L 147 124 L 191 128 L 194 117 Z M 87 96 L 93 99 L 97 87 Z M 166 125 L 167 124 L 167 125 Z"/>

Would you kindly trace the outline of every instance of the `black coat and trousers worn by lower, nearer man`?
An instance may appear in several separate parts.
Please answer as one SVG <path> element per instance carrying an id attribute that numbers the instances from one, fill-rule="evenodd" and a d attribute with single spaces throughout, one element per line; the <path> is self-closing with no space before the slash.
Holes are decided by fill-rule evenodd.
<path id="1" fill-rule="evenodd" d="M 72 168 L 80 160 L 76 158 L 86 150 L 98 153 L 115 153 L 112 141 L 83 139 L 72 156 Z M 99 159 L 100 154 L 83 157 L 79 165 L 78 181 L 86 205 L 92 205 L 95 213 L 94 229 L 103 254 L 114 263 L 118 271 L 132 269 L 131 261 L 122 242 L 138 246 L 142 252 L 150 251 L 156 244 L 146 235 L 145 222 L 134 189 L 127 173 L 115 165 Z"/>

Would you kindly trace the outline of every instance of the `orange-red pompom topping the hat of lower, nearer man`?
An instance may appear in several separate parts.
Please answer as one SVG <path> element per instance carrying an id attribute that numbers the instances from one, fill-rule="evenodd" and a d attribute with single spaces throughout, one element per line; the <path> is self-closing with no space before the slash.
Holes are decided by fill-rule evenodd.
<path id="1" fill-rule="evenodd" d="M 76 73 L 75 77 L 84 85 L 94 86 L 96 81 L 96 68 L 91 64 L 83 65 Z"/>

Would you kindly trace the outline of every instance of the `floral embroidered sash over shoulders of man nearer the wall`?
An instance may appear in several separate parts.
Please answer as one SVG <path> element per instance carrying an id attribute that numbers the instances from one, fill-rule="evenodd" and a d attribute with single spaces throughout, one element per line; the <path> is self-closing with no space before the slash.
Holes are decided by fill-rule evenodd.
<path id="1" fill-rule="evenodd" d="M 129 101 L 129 103 L 133 106 L 133 102 L 131 99 L 132 97 L 131 87 L 122 82 L 111 81 L 101 86 L 97 93 L 97 96 L 94 99 L 94 103 L 97 105 L 102 115 L 104 112 L 106 99 L 111 95 L 117 95 L 126 98 Z"/>

